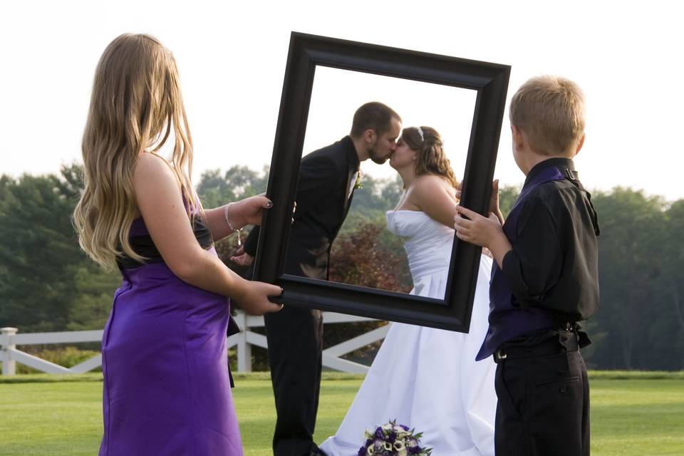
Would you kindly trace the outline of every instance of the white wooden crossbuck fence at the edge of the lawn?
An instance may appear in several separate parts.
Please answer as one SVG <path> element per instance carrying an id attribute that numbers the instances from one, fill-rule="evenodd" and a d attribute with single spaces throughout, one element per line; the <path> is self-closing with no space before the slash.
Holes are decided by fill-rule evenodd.
<path id="1" fill-rule="evenodd" d="M 227 338 L 228 348 L 237 346 L 237 371 L 252 371 L 252 346 L 268 348 L 266 336 L 250 331 L 250 328 L 264 326 L 264 317 L 251 316 L 238 312 L 235 317 L 242 332 Z M 333 314 L 323 312 L 323 323 L 352 323 L 355 321 L 371 321 L 372 318 L 364 318 L 353 315 Z M 391 323 L 390 323 L 391 324 Z M 351 338 L 336 346 L 323 351 L 323 366 L 336 371 L 351 373 L 366 373 L 368 367 L 340 358 L 346 353 L 351 353 L 367 346 L 375 341 L 385 338 L 390 324 L 375 328 L 361 336 Z M 92 371 L 102 365 L 102 356 L 97 355 L 83 361 L 83 363 L 65 368 L 44 359 L 33 356 L 16 346 L 48 344 L 48 343 L 77 343 L 77 342 L 101 342 L 103 331 L 66 331 L 61 333 L 18 333 L 17 328 L 0 328 L 0 361 L 2 362 L 2 375 L 15 375 L 16 363 L 34 368 L 46 373 L 84 373 Z"/>

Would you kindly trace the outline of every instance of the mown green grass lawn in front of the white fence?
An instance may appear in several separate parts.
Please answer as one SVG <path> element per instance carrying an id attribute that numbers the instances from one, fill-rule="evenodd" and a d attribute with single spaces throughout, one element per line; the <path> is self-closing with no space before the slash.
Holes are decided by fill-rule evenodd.
<path id="1" fill-rule="evenodd" d="M 236 381 L 245 454 L 271 455 L 270 380 Z M 317 442 L 336 430 L 359 385 L 359 375 L 323 374 Z M 0 455 L 96 455 L 101 399 L 101 374 L 0 378 Z M 684 455 L 684 373 L 591 373 L 591 437 L 594 456 Z"/>

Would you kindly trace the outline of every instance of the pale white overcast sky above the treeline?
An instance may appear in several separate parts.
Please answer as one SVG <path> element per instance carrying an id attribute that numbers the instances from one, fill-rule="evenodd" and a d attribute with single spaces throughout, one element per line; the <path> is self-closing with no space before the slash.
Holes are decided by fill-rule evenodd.
<path id="1" fill-rule="evenodd" d="M 571 78 L 588 102 L 586 142 L 576 158 L 586 187 L 621 185 L 679 199 L 684 32 L 677 10 L 670 1 L 7 2 L 0 9 L 0 173 L 57 172 L 81 160 L 95 64 L 129 31 L 151 33 L 175 54 L 195 182 L 209 169 L 260 170 L 270 162 L 289 36 L 301 31 L 505 63 L 512 66 L 508 99 L 531 76 Z M 314 83 L 307 149 L 348 133 L 348 105 L 373 97 L 398 110 L 406 126 L 440 130 L 462 175 L 462 123 L 469 122 L 462 116 L 472 115 L 475 100 L 469 90 L 442 96 L 419 83 L 378 86 L 367 75 L 324 73 Z M 348 82 L 331 83 L 339 77 Z M 361 90 L 369 87 L 378 89 Z M 369 162 L 363 170 L 391 175 Z M 503 185 L 524 180 L 507 118 L 495 175 Z"/>

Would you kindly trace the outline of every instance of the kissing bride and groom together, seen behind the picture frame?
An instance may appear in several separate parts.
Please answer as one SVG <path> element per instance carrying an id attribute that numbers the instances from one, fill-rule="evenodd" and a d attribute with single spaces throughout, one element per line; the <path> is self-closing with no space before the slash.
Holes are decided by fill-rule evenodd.
<path id="1" fill-rule="evenodd" d="M 387 227 L 403 239 L 411 294 L 443 299 L 457 178 L 434 128 L 402 130 L 400 116 L 378 102 L 356 110 L 349 135 L 302 158 L 284 273 L 328 279 L 332 243 L 351 205 L 359 165 L 369 158 L 378 164 L 389 160 L 403 182 L 402 197 L 387 212 Z M 254 227 L 233 261 L 250 264 L 258 237 L 259 227 Z M 435 455 L 493 455 L 496 365 L 491 358 L 475 362 L 487 332 L 491 269 L 492 260 L 483 255 L 470 333 L 392 323 L 343 423 L 320 447 L 313 435 L 321 383 L 321 311 L 286 306 L 266 314 L 278 415 L 274 455 L 356 455 L 366 429 L 393 419 L 423 432 L 422 444 Z"/>

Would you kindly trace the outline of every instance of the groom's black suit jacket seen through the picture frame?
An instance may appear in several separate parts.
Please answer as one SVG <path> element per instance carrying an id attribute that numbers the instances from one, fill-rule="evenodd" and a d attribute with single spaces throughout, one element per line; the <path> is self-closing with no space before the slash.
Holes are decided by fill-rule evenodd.
<path id="1" fill-rule="evenodd" d="M 296 211 L 290 231 L 285 274 L 328 279 L 330 249 L 351 204 L 349 190 L 358 172 L 358 155 L 349 136 L 301 159 Z M 278 170 L 271 170 L 278 172 Z M 259 227 L 254 227 L 244 251 L 257 252 Z"/>

